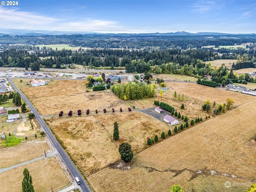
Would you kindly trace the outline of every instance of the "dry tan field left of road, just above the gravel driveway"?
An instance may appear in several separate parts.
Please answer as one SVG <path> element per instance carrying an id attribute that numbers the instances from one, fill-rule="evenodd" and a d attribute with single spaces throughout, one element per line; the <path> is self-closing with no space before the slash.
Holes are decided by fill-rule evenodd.
<path id="1" fill-rule="evenodd" d="M 34 158 L 44 156 L 50 148 L 44 138 L 38 138 L 12 147 L 0 149 L 0 168 L 10 167 Z"/>

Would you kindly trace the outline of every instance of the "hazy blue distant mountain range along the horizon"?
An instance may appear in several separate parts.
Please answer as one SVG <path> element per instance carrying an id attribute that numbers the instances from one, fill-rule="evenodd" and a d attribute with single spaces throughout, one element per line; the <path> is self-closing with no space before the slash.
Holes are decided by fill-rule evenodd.
<path id="1" fill-rule="evenodd" d="M 228 34 L 228 33 L 217 33 L 217 32 L 198 32 L 189 33 L 185 31 L 171 32 L 171 33 L 140 33 L 140 34 L 129 34 L 129 33 L 97 33 L 97 32 L 65 32 L 65 31 L 50 31 L 50 30 L 20 30 L 20 29 L 0 29 L 0 36 L 3 35 L 10 36 L 44 36 L 44 35 L 88 35 L 88 34 L 100 34 L 108 36 L 234 36 L 234 35 L 256 35 L 253 34 Z"/>

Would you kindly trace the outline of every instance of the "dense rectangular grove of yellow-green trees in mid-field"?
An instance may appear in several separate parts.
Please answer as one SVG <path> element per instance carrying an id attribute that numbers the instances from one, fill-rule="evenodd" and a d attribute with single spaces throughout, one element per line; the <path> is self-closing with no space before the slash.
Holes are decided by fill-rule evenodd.
<path id="1" fill-rule="evenodd" d="M 134 100 L 154 97 L 154 88 L 155 86 L 151 85 L 144 85 L 142 83 L 132 84 L 128 82 L 128 84 L 113 85 L 111 90 L 121 100 Z"/>

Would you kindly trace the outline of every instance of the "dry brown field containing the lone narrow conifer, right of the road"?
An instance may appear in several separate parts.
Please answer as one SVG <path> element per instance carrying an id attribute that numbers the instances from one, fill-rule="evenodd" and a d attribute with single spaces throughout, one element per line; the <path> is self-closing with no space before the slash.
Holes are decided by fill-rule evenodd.
<path id="1" fill-rule="evenodd" d="M 145 140 L 168 126 L 140 112 L 98 114 L 70 118 L 48 118 L 55 134 L 85 175 L 90 175 L 120 160 L 119 144 L 113 139 L 114 122 L 119 124 L 119 143 L 132 144 L 134 153 L 148 147 Z"/>

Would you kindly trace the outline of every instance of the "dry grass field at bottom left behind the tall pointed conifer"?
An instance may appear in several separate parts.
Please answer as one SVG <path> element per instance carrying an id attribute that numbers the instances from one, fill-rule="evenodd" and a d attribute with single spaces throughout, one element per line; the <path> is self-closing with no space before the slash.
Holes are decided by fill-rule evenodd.
<path id="1" fill-rule="evenodd" d="M 28 168 L 36 192 L 50 192 L 67 186 L 69 181 L 55 157 L 8 170 L 0 174 L 2 191 L 22 192 L 23 170 Z M 4 190 L 5 189 L 5 190 Z"/>

